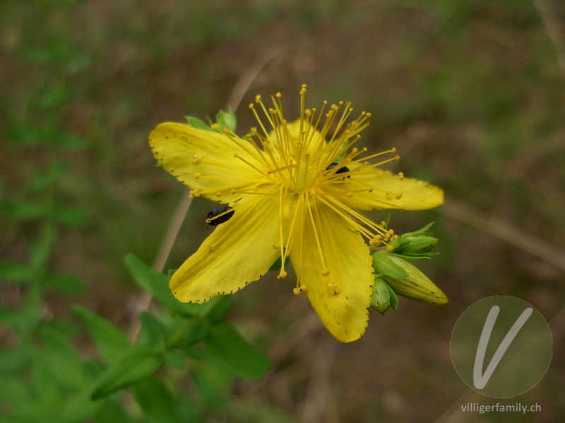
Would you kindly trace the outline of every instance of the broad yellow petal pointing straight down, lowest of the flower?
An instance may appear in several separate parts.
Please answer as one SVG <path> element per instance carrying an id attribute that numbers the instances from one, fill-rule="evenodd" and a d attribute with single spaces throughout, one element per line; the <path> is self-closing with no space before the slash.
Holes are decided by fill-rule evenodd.
<path id="1" fill-rule="evenodd" d="M 340 342 L 355 341 L 369 320 L 374 283 L 369 248 L 324 204 L 318 202 L 311 209 L 315 227 L 307 207 L 302 208 L 302 225 L 290 247 L 292 266 L 326 329 Z"/>

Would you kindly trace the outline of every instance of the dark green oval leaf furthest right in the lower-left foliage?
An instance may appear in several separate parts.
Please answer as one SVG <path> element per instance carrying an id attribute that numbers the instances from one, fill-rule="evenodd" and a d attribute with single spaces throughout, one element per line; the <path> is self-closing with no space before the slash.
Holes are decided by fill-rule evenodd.
<path id="1" fill-rule="evenodd" d="M 210 325 L 204 343 L 211 355 L 246 379 L 261 379 L 272 364 L 245 341 L 233 326 L 224 321 Z"/>

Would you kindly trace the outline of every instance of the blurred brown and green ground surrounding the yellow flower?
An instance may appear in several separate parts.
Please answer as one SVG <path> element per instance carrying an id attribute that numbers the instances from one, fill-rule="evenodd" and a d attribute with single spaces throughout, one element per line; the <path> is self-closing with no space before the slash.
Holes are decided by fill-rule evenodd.
<path id="1" fill-rule="evenodd" d="M 23 307 L 39 267 L 52 288 L 42 319 L 76 319 L 70 306 L 81 304 L 127 331 L 141 293 L 123 257 L 153 261 L 186 193 L 155 166 L 150 130 L 215 116 L 242 94 L 243 134 L 256 94 L 282 92 L 290 116 L 306 83 L 309 106 L 344 100 L 372 113 L 362 142 L 396 147 L 403 159 L 389 169 L 444 188 L 444 206 L 393 212 L 391 223 L 401 233 L 436 221 L 441 255 L 422 269 L 450 302 L 401 299 L 341 345 L 292 281 L 263 278 L 234 295 L 230 321 L 275 364 L 230 398 L 304 422 L 565 419 L 561 1 L 4 0 L 0 47 L 2 309 Z M 167 268 L 206 237 L 213 208 L 193 203 Z M 496 403 L 472 396 L 449 355 L 458 316 L 490 295 L 523 298 L 549 321 L 545 378 L 501 400 L 542 412 L 460 411 Z M 15 342 L 0 326 L 0 343 Z M 84 336 L 76 345 L 92 350 Z"/>

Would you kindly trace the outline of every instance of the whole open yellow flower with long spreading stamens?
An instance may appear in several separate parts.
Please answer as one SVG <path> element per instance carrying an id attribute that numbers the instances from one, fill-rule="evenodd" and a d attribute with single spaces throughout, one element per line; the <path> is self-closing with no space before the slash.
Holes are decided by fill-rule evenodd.
<path id="1" fill-rule="evenodd" d="M 362 336 L 369 319 L 374 276 L 366 241 L 376 245 L 390 235 L 359 210 L 430 209 L 444 196 L 428 183 L 381 170 L 398 159 L 395 149 L 353 148 L 369 113 L 350 121 L 351 105 L 343 102 L 306 109 L 305 94 L 303 85 L 299 120 L 292 123 L 280 94 L 270 109 L 257 97 L 259 112 L 249 107 L 258 128 L 244 138 L 218 125 L 210 132 L 181 123 L 162 123 L 150 134 L 155 158 L 192 197 L 234 212 L 175 272 L 170 288 L 182 302 L 205 302 L 258 280 L 278 257 L 278 278 L 285 278 L 291 259 L 295 294 L 305 293 L 345 343 Z"/>

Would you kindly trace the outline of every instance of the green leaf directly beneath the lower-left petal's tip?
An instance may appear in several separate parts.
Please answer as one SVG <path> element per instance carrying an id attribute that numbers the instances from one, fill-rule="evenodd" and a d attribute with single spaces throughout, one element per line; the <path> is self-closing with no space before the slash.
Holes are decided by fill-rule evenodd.
<path id="1" fill-rule="evenodd" d="M 174 298 L 169 289 L 167 276 L 157 273 L 134 255 L 127 255 L 125 263 L 129 274 L 138 286 L 152 294 L 167 309 L 183 316 L 191 317 L 196 314 L 198 305 L 185 304 Z"/>

